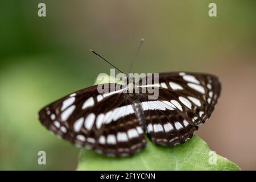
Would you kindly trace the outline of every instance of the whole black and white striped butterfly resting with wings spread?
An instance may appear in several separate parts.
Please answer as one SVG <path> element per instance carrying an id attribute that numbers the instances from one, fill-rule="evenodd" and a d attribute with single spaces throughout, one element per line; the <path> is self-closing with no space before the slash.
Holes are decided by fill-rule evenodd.
<path id="1" fill-rule="evenodd" d="M 136 85 L 136 83 L 134 83 Z M 106 86 L 106 85 L 105 85 Z M 107 84 L 110 88 L 117 84 Z M 152 86 L 145 85 L 142 86 Z M 193 136 L 210 117 L 220 96 L 216 76 L 159 73 L 159 97 L 120 90 L 100 94 L 97 85 L 69 94 L 39 111 L 40 122 L 76 146 L 107 156 L 129 156 L 155 144 L 174 146 Z"/>

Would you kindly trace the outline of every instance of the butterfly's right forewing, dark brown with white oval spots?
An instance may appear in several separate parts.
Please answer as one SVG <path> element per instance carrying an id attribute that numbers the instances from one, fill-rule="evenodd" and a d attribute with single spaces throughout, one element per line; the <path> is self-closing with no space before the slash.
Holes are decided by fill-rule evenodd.
<path id="1" fill-rule="evenodd" d="M 152 79 L 154 82 L 154 78 Z M 166 100 L 191 125 L 204 123 L 220 97 L 220 81 L 203 73 L 159 73 L 158 100 Z"/>

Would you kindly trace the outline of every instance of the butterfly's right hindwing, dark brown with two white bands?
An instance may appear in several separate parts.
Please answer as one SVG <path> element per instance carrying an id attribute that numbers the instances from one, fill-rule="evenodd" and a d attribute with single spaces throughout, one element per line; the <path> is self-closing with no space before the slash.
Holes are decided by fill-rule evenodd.
<path id="1" fill-rule="evenodd" d="M 143 110 L 146 133 L 155 144 L 174 146 L 184 143 L 198 129 L 177 112 L 168 98 L 159 96 L 157 100 L 148 100 L 140 95 L 138 103 Z"/>

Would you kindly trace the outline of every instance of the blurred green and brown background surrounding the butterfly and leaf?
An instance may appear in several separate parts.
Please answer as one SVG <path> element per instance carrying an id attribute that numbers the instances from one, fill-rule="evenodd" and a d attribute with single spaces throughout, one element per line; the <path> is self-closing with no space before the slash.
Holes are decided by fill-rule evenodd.
<path id="1" fill-rule="evenodd" d="M 47 16 L 39 18 L 38 3 Z M 208 16 L 210 2 L 217 17 Z M 79 149 L 40 125 L 41 107 L 86 86 L 110 66 L 125 72 L 209 72 L 221 100 L 198 132 L 242 169 L 256 169 L 256 1 L 0 2 L 0 169 L 75 169 Z M 47 165 L 38 165 L 38 151 Z"/>

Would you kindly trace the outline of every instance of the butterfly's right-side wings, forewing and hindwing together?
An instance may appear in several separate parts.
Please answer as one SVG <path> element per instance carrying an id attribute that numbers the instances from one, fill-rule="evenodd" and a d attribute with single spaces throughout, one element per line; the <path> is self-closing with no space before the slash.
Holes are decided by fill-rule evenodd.
<path id="1" fill-rule="evenodd" d="M 150 80 L 151 79 L 151 80 Z M 203 73 L 159 73 L 159 82 L 148 78 L 148 88 L 159 88 L 156 100 L 141 94 L 148 137 L 156 144 L 172 146 L 191 138 L 197 126 L 212 114 L 220 96 L 216 76 Z"/>

